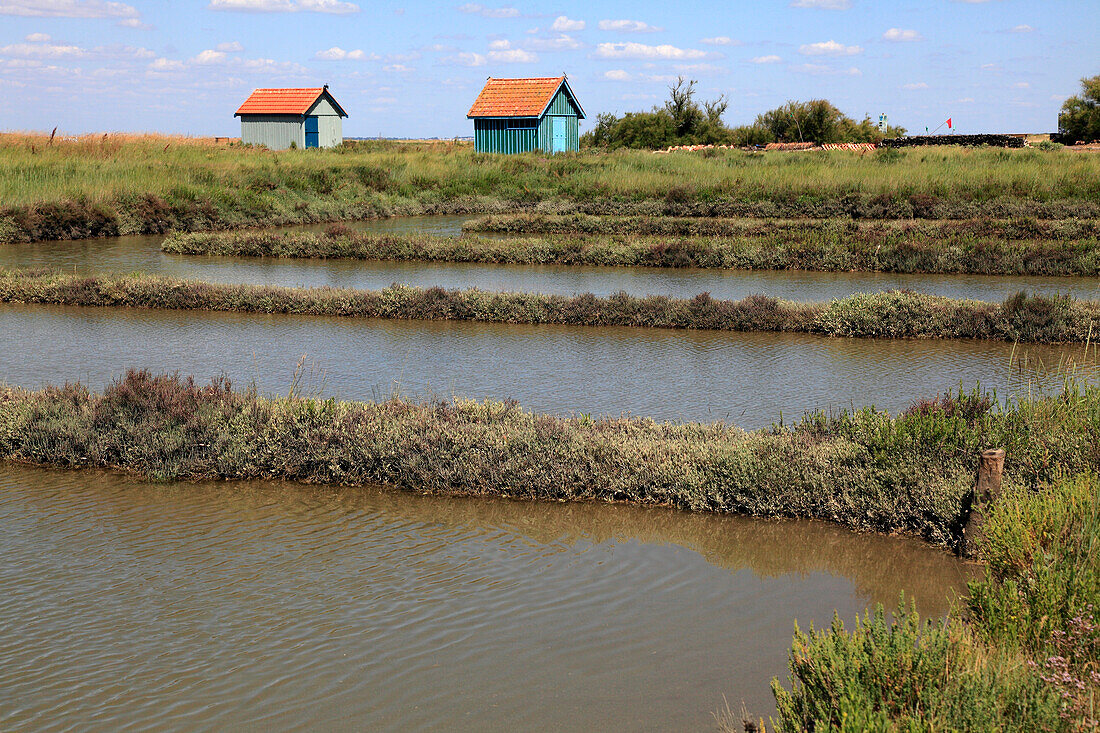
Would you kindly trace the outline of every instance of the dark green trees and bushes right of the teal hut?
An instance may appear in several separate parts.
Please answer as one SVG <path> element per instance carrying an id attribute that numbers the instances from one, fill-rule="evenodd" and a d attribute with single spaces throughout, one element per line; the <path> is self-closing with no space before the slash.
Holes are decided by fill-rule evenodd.
<path id="1" fill-rule="evenodd" d="M 759 114 L 752 124 L 730 128 L 722 121 L 729 100 L 695 101 L 695 81 L 680 77 L 669 87 L 669 99 L 649 112 L 623 117 L 600 114 L 596 127 L 584 133 L 584 146 L 658 149 L 670 145 L 762 145 L 770 142 L 876 142 L 882 140 L 870 117 L 857 122 L 831 102 L 812 99 L 787 102 Z M 886 136 L 905 134 L 888 128 Z"/>

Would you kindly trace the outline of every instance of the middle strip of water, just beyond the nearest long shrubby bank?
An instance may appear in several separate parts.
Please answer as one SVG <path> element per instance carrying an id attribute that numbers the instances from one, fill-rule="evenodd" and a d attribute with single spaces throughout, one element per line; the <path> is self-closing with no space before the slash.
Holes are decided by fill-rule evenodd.
<path id="1" fill-rule="evenodd" d="M 1001 397 L 1057 386 L 1096 349 L 997 341 L 845 339 L 649 328 L 371 320 L 234 313 L 0 306 L 0 383 L 101 389 L 128 368 L 226 373 L 286 394 L 298 359 L 310 392 L 344 400 L 510 397 L 537 412 L 723 419 L 746 428 L 807 409 L 876 405 L 980 382 Z"/>

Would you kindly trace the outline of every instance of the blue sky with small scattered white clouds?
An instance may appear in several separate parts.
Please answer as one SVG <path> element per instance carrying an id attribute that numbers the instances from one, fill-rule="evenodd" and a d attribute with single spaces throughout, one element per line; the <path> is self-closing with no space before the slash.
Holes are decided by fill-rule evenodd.
<path id="1" fill-rule="evenodd" d="M 327 83 L 346 135 L 466 135 L 486 77 L 564 72 L 590 123 L 684 75 L 732 124 L 823 97 L 911 132 L 1047 132 L 1100 74 L 1098 29 L 1096 0 L 0 0 L 0 130 L 239 134 L 253 88 Z"/>

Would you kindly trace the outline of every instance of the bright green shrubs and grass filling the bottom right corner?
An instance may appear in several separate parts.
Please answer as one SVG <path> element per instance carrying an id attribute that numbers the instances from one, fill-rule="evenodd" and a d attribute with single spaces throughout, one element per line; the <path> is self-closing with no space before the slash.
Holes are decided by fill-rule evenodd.
<path id="1" fill-rule="evenodd" d="M 922 622 L 902 605 L 891 620 L 880 606 L 851 631 L 796 630 L 787 687 L 772 685 L 776 727 L 1094 731 L 1100 480 L 1010 491 L 981 551 L 987 577 L 956 617 Z"/>

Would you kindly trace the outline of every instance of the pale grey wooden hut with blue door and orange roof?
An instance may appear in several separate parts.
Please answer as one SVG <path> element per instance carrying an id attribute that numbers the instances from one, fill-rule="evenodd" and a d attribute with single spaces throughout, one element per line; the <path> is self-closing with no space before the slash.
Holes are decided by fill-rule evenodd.
<path id="1" fill-rule="evenodd" d="M 329 85 L 306 89 L 256 89 L 233 117 L 241 118 L 241 142 L 272 150 L 336 147 L 343 142 L 348 112 Z"/>

